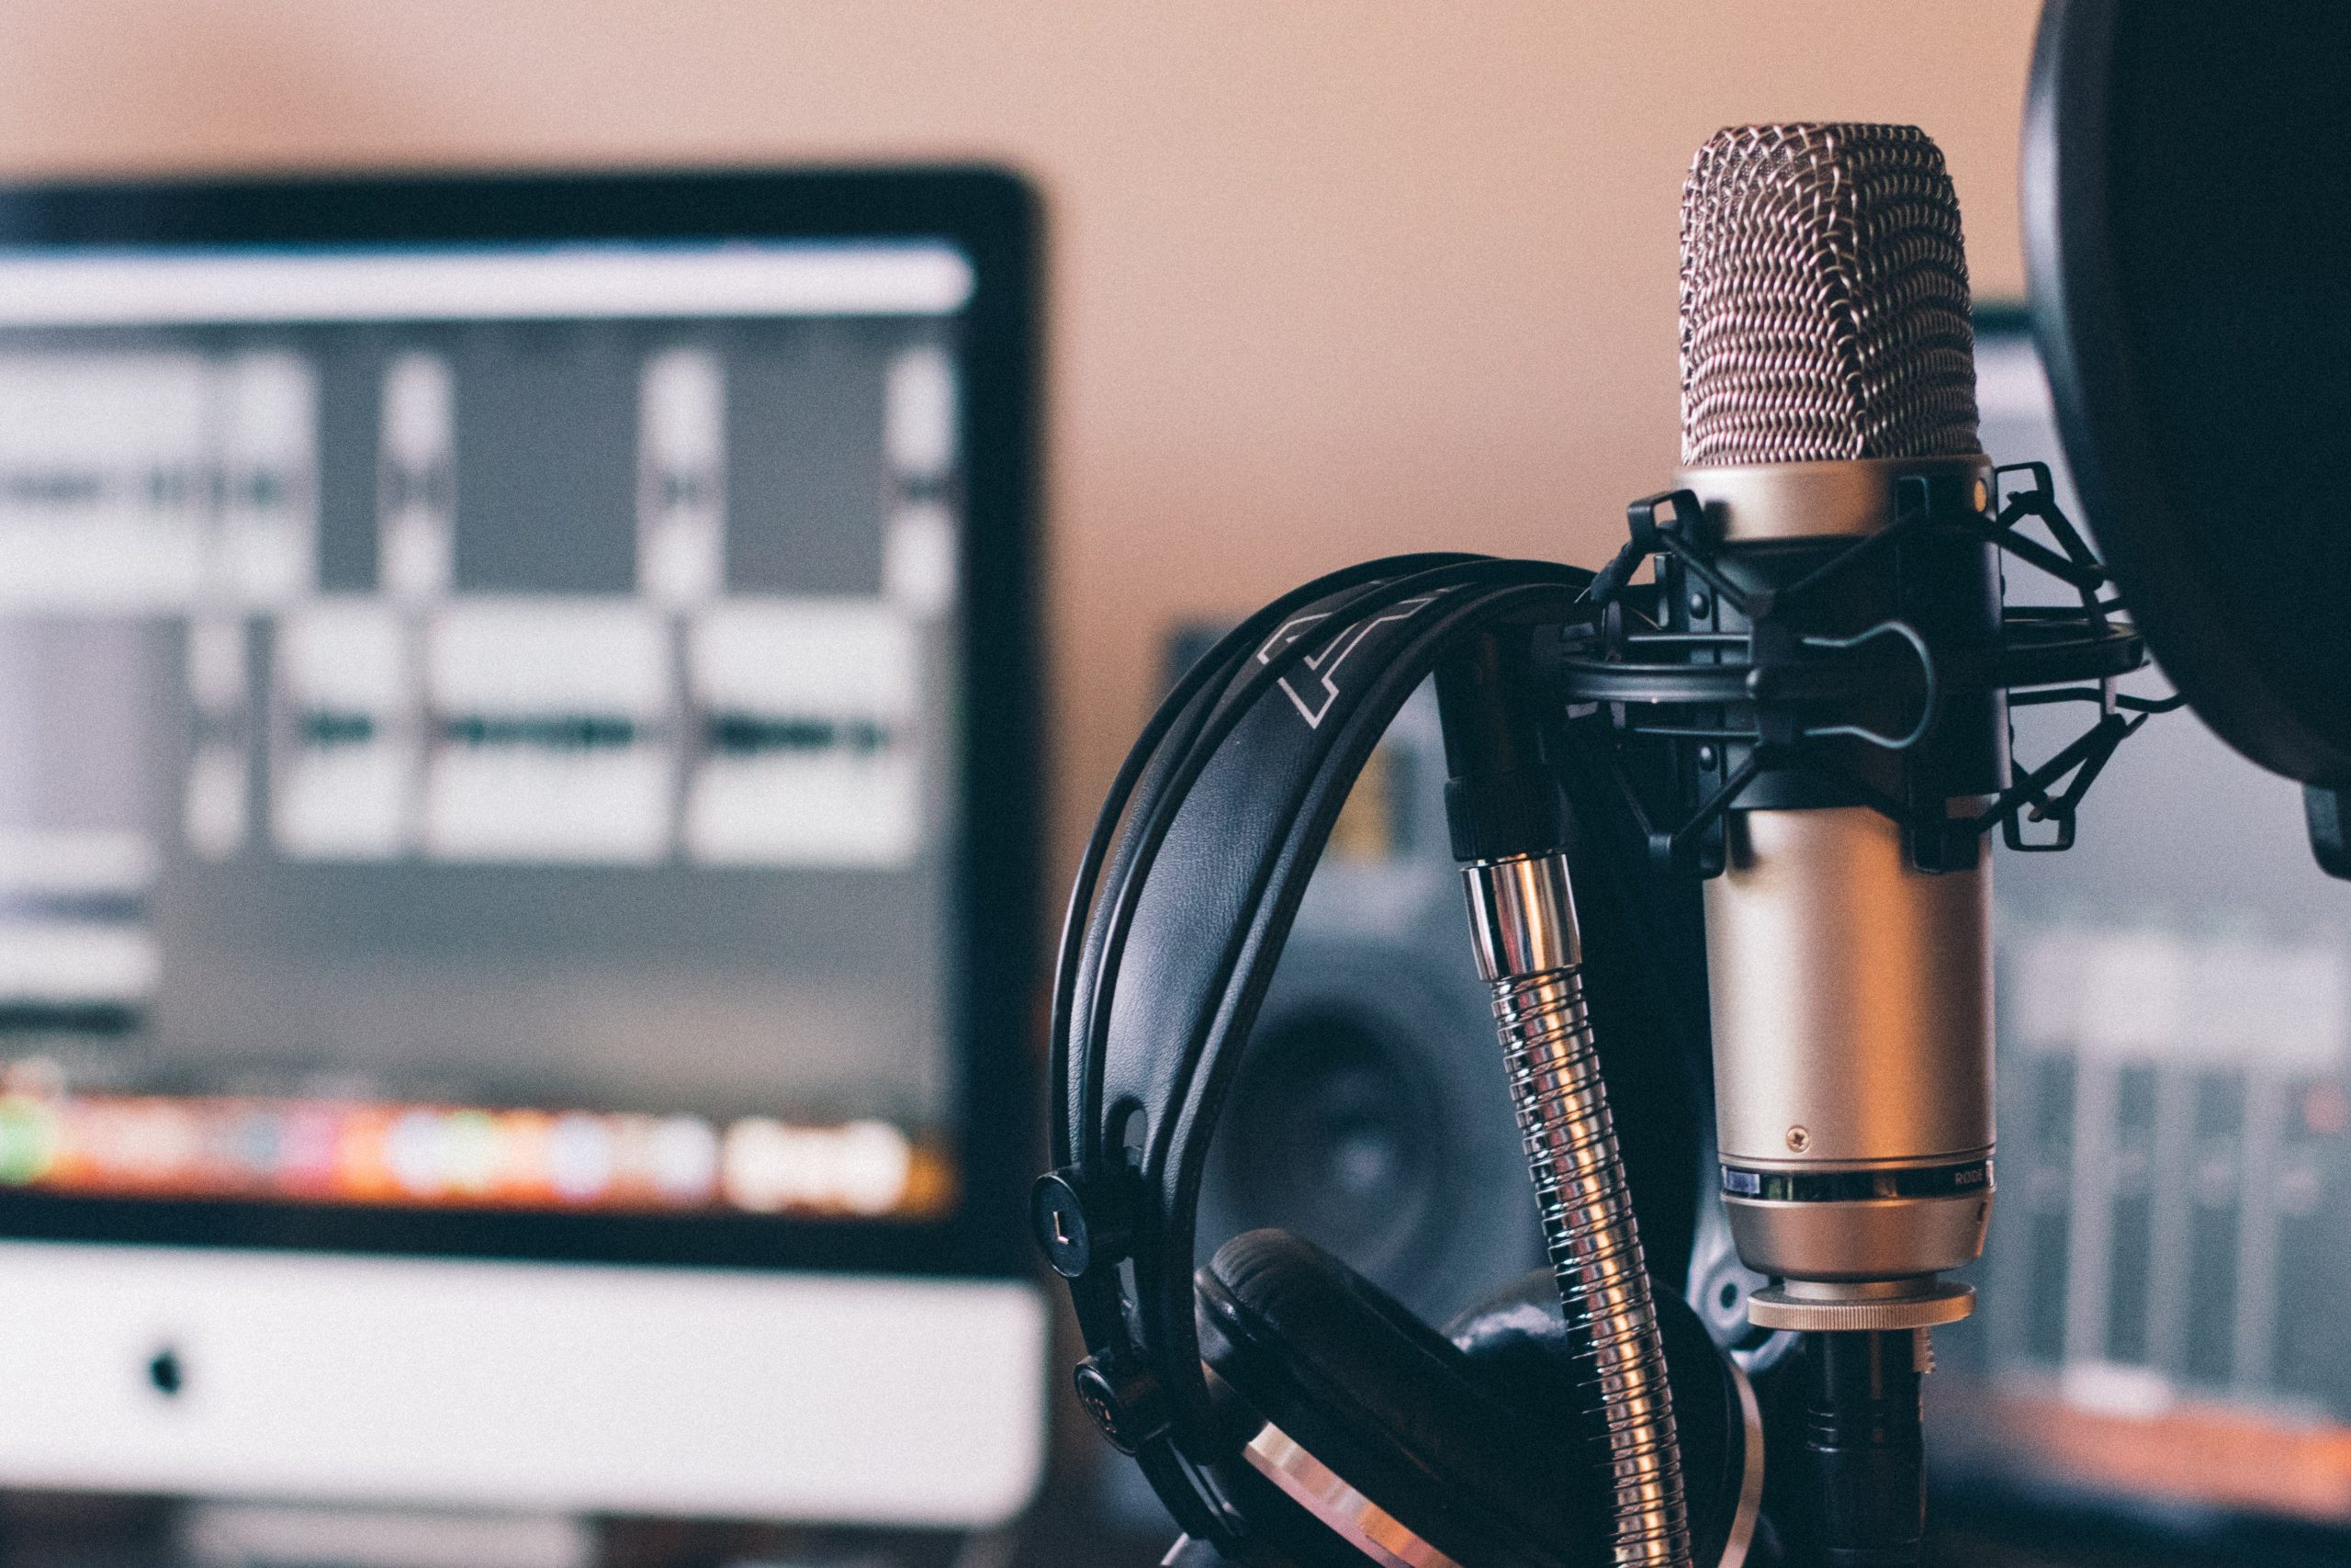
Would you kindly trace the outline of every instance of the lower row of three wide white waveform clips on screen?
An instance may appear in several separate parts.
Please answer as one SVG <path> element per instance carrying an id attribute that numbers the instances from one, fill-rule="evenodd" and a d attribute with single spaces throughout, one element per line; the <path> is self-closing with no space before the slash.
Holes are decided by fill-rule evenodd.
<path id="1" fill-rule="evenodd" d="M 922 842 L 907 616 L 724 599 L 277 621 L 270 832 L 306 860 L 903 865 Z"/>

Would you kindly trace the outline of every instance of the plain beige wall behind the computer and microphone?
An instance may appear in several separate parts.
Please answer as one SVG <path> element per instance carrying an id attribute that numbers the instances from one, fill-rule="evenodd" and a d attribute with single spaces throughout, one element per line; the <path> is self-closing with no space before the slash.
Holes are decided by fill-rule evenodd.
<path id="1" fill-rule="evenodd" d="M 0 172 L 1030 169 L 1067 846 L 1171 616 L 1401 548 L 1613 545 L 1674 456 L 1674 202 L 1716 125 L 1923 125 L 2015 294 L 2036 9 L 0 0 Z"/>

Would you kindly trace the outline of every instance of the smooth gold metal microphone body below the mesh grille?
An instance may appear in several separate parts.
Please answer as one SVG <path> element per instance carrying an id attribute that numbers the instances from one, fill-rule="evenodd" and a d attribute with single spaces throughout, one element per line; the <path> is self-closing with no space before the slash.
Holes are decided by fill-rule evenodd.
<path id="1" fill-rule="evenodd" d="M 1982 456 L 1686 468 L 1726 571 L 1893 524 L 1904 477 Z M 1949 804 L 1975 811 L 1980 797 Z M 1704 884 L 1716 1143 L 1740 1258 L 1773 1328 L 1965 1316 L 1937 1279 L 1991 1215 L 1991 865 L 1923 872 L 1867 806 L 1733 811 Z"/>

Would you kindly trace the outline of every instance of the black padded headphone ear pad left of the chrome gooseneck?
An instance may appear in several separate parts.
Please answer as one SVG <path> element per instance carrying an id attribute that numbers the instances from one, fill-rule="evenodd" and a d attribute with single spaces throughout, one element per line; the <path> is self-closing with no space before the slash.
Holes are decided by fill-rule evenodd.
<path id="1" fill-rule="evenodd" d="M 1589 1453 L 1312 1241 L 1234 1237 L 1199 1272 L 1197 1302 L 1218 1378 L 1446 1556 L 1606 1559 L 1608 1493 Z"/>

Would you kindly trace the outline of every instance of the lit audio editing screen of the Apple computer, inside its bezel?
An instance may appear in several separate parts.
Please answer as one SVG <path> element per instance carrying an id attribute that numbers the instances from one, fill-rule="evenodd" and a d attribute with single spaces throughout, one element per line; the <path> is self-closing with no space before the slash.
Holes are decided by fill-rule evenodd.
<path id="1" fill-rule="evenodd" d="M 0 1182 L 952 1206 L 969 292 L 0 256 Z"/>

